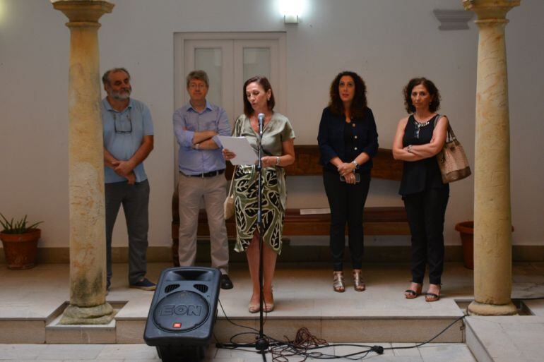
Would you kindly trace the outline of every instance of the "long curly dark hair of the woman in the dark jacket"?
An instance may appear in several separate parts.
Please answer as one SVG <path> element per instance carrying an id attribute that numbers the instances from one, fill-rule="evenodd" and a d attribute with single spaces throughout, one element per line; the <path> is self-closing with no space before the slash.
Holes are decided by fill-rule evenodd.
<path id="1" fill-rule="evenodd" d="M 365 115 L 365 109 L 367 108 L 367 86 L 365 81 L 355 72 L 343 71 L 338 73 L 331 83 L 331 90 L 329 90 L 329 95 L 331 99 L 329 100 L 329 108 L 337 116 L 342 116 L 344 114 L 344 103 L 340 99 L 340 91 L 338 86 L 340 85 L 340 80 L 343 76 L 350 76 L 355 82 L 355 95 L 353 96 L 353 102 L 351 102 L 350 115 L 355 118 L 360 118 Z"/>

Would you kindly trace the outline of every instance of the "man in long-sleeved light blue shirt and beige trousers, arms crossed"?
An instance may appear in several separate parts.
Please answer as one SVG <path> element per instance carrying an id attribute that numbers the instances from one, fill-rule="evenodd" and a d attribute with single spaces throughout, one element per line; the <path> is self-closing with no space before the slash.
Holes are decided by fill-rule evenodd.
<path id="1" fill-rule="evenodd" d="M 192 71 L 187 76 L 190 101 L 174 112 L 174 133 L 179 144 L 179 265 L 194 265 L 196 229 L 201 200 L 210 227 L 211 265 L 221 271 L 221 288 L 231 289 L 228 277 L 227 228 L 223 203 L 227 197 L 225 160 L 218 135 L 230 135 L 227 114 L 208 103 L 208 75 Z"/>

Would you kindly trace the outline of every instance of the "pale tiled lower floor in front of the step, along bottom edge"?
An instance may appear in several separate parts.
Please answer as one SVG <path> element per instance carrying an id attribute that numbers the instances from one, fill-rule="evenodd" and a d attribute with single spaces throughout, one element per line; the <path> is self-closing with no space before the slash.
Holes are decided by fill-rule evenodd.
<path id="1" fill-rule="evenodd" d="M 413 344 L 365 343 L 359 346 L 329 346 L 319 349 L 322 354 L 346 356 L 365 351 L 365 346 L 383 346 L 384 354 L 373 352 L 361 361 L 372 362 L 475 362 L 475 358 L 465 344 L 426 344 L 413 349 L 391 349 Z M 316 353 L 316 351 L 314 351 Z M 362 354 L 350 356 L 357 358 Z M 266 354 L 266 360 L 272 361 L 272 355 Z M 289 361 L 302 361 L 300 356 L 289 356 Z M 47 362 L 122 362 L 122 361 L 160 361 L 153 347 L 145 344 L 0 344 L 0 361 L 47 361 Z M 251 349 L 215 349 L 206 351 L 204 361 L 214 362 L 261 362 L 262 356 Z M 307 361 L 322 361 L 308 358 Z M 341 358 L 338 361 L 350 361 Z"/>

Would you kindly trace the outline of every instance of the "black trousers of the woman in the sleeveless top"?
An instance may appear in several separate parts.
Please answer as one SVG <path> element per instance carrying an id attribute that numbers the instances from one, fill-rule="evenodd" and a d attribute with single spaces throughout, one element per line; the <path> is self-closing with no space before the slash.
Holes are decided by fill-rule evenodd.
<path id="1" fill-rule="evenodd" d="M 412 234 L 412 282 L 423 283 L 429 264 L 430 284 L 441 284 L 444 271 L 444 214 L 449 188 L 430 188 L 404 195 L 404 207 Z"/>

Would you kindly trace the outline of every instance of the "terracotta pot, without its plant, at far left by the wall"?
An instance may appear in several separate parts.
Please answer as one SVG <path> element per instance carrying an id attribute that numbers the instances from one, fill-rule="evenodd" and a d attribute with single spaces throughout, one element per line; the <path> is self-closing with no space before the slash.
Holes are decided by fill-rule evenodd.
<path id="1" fill-rule="evenodd" d="M 42 231 L 33 229 L 25 234 L 0 233 L 8 269 L 30 269 L 36 263 L 37 242 Z"/>

